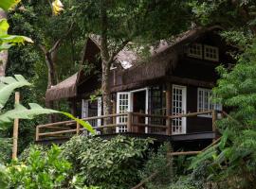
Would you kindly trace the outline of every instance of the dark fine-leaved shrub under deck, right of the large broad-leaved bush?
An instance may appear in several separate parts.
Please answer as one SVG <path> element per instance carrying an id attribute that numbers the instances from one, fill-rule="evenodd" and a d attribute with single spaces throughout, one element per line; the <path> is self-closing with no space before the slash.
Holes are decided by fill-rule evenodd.
<path id="1" fill-rule="evenodd" d="M 171 152 L 170 144 L 166 143 L 157 149 L 157 152 L 151 151 L 144 167 L 139 171 L 140 180 L 145 180 L 156 171 L 159 173 L 154 178 L 146 182 L 149 189 L 166 188 L 174 180 L 173 157 L 168 157 L 167 152 Z M 167 166 L 167 164 L 169 164 Z"/>

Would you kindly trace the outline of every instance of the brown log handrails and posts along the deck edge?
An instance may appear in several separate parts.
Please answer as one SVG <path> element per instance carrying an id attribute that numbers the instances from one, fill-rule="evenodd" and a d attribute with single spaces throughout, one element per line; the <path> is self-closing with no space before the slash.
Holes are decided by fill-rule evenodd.
<path id="1" fill-rule="evenodd" d="M 93 129 L 101 130 L 106 128 L 117 128 L 120 126 L 126 126 L 128 132 L 135 131 L 133 128 L 155 128 L 155 129 L 165 129 L 166 135 L 172 135 L 172 120 L 175 118 L 182 118 L 182 117 L 192 117 L 200 114 L 212 114 L 212 130 L 215 131 L 215 121 L 217 119 L 216 113 L 217 111 L 205 111 L 205 112 L 189 112 L 185 114 L 176 114 L 176 115 L 155 115 L 155 114 L 145 114 L 140 112 L 122 112 L 122 113 L 115 113 L 115 114 L 109 114 L 109 115 L 101 115 L 101 116 L 93 116 L 93 117 L 86 117 L 82 118 L 83 121 L 90 121 L 90 120 L 98 120 L 98 119 L 104 119 L 104 118 L 113 118 L 113 117 L 119 117 L 119 116 L 127 116 L 127 122 L 125 123 L 113 123 L 113 124 L 107 124 L 107 125 L 101 125 L 98 127 L 94 127 Z M 137 123 L 136 119 L 134 117 L 145 117 L 145 118 L 160 118 L 163 120 L 166 120 L 166 125 L 155 125 L 151 123 Z M 76 126 L 75 126 L 76 124 Z M 73 126 L 74 125 L 74 126 Z M 71 127 L 73 126 L 73 127 Z M 75 129 L 76 128 L 76 129 Z M 40 132 L 41 129 L 47 129 L 46 132 Z M 50 131 L 50 129 L 54 129 L 54 131 Z M 56 130 L 57 129 L 57 130 Z M 60 129 L 60 130 L 58 130 Z M 50 123 L 45 125 L 39 125 L 36 127 L 36 141 L 39 140 L 42 136 L 54 136 L 54 135 L 60 135 L 64 133 L 77 133 L 79 134 L 82 130 L 86 130 L 81 128 L 81 126 L 76 123 L 76 121 L 63 121 L 63 122 L 56 122 L 56 123 Z"/>

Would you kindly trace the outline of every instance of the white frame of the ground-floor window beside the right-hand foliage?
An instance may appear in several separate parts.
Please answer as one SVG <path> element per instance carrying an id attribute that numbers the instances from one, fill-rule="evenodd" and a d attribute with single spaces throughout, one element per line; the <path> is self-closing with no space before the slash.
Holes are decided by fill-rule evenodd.
<path id="1" fill-rule="evenodd" d="M 203 101 L 202 103 L 200 103 L 200 92 L 203 93 Z M 207 99 L 207 109 L 205 108 L 205 94 L 208 95 L 208 99 Z M 203 107 L 200 108 L 199 106 Z M 197 112 L 204 112 L 204 111 L 211 111 L 211 110 L 216 110 L 216 111 L 222 111 L 222 105 L 221 104 L 216 104 L 216 103 L 212 103 L 212 92 L 211 92 L 211 89 L 208 89 L 208 88 L 197 88 Z M 209 117 L 211 118 L 212 117 L 212 114 L 211 113 L 208 113 L 208 114 L 200 114 L 200 115 L 197 115 L 199 117 Z"/>

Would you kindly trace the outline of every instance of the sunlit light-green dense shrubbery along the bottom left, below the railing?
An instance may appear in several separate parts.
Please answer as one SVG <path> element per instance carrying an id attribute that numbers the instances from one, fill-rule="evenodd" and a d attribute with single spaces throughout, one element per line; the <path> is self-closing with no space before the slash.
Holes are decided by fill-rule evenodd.
<path id="1" fill-rule="evenodd" d="M 62 149 L 52 146 L 30 146 L 22 154 L 21 160 L 7 166 L 0 166 L 0 188 L 21 189 L 101 189 L 87 187 L 82 177 L 72 175 L 72 164 L 62 157 Z"/>

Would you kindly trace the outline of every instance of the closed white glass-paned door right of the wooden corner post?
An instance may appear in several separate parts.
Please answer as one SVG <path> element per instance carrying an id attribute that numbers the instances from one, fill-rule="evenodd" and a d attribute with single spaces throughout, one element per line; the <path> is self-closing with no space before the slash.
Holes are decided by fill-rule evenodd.
<path id="1" fill-rule="evenodd" d="M 186 113 L 187 89 L 185 86 L 173 85 L 173 114 Z M 172 123 L 173 134 L 186 133 L 186 117 L 175 118 Z"/>

